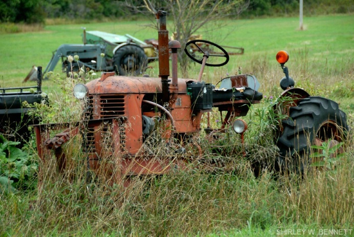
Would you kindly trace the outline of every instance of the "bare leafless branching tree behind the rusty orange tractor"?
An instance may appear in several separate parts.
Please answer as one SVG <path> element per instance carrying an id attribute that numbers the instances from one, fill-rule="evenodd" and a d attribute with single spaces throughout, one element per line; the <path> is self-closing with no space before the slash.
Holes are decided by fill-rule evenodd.
<path id="1" fill-rule="evenodd" d="M 143 0 L 142 6 L 135 6 L 133 0 L 126 0 L 127 6 L 136 12 L 148 15 L 156 9 L 164 9 L 173 19 L 173 35 L 175 40 L 186 45 L 193 34 L 207 26 L 214 24 L 214 29 L 220 28 L 217 21 L 228 17 L 238 16 L 248 7 L 250 0 Z M 156 26 L 157 24 L 154 23 Z M 217 27 L 217 28 L 216 28 Z M 179 63 L 182 71 L 187 72 L 188 61 L 183 50 L 178 51 Z"/>

